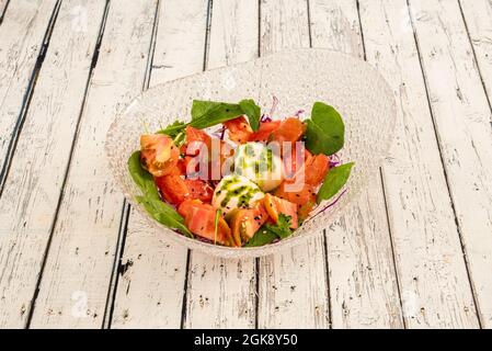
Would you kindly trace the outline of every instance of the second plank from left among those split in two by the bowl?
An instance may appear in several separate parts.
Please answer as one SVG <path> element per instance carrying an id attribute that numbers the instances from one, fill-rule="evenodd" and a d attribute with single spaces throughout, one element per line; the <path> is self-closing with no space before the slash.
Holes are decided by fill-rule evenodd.
<path id="1" fill-rule="evenodd" d="M 258 56 L 258 2 L 213 2 L 206 68 Z M 233 79 L 233 77 L 231 77 Z M 253 328 L 255 260 L 226 260 L 192 252 L 187 279 L 186 328 Z"/>

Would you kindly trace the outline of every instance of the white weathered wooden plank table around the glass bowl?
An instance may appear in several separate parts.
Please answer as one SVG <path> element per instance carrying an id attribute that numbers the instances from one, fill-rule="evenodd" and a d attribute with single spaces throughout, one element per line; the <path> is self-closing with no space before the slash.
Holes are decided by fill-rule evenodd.
<path id="1" fill-rule="evenodd" d="M 491 0 L 0 0 L 0 326 L 492 328 Z M 149 86 L 295 47 L 367 59 L 390 155 L 305 245 L 162 242 L 105 167 Z M 364 79 L 364 77 L 362 77 Z"/>

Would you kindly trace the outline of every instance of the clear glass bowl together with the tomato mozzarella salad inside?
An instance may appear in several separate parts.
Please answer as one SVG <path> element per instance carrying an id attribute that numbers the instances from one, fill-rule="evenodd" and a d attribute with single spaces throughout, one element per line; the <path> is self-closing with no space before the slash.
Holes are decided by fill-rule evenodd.
<path id="1" fill-rule="evenodd" d="M 305 245 L 343 227 L 380 181 L 396 111 L 376 69 L 327 49 L 151 87 L 116 111 L 106 135 L 107 168 L 135 214 L 122 224 L 221 258 Z"/>

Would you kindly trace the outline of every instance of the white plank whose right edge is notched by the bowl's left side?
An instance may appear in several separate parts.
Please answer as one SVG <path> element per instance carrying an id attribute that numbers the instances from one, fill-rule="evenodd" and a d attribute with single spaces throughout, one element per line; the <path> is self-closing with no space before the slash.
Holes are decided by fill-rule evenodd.
<path id="1" fill-rule="evenodd" d="M 157 1 L 110 4 L 33 327 L 101 327 L 123 196 L 104 167 L 113 116 L 141 92 Z"/>

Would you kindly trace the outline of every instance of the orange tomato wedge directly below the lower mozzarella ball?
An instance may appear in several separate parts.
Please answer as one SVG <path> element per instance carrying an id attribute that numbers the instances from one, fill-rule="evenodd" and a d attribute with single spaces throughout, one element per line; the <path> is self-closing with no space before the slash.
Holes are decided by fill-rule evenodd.
<path id="1" fill-rule="evenodd" d="M 254 208 L 234 210 L 230 215 L 232 238 L 237 246 L 248 242 L 268 218 L 265 206 L 261 202 Z"/>

